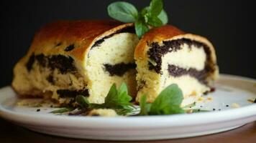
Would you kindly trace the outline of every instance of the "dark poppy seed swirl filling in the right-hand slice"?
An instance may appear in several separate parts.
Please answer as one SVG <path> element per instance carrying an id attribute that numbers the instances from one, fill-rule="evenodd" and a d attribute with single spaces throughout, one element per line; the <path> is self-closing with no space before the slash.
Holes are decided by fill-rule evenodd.
<path id="1" fill-rule="evenodd" d="M 173 77 L 180 77 L 183 74 L 188 74 L 191 77 L 195 77 L 198 79 L 199 82 L 203 84 L 207 84 L 206 77 L 207 73 L 209 71 L 214 71 L 214 68 L 209 64 L 210 63 L 210 54 L 211 51 L 209 49 L 209 46 L 206 44 L 203 44 L 198 41 L 193 41 L 191 39 L 176 39 L 172 41 L 163 41 L 163 46 L 160 46 L 156 42 L 153 42 L 150 44 L 151 48 L 149 51 L 147 51 L 147 55 L 149 56 L 150 60 L 155 61 L 155 64 L 153 65 L 152 62 L 148 62 L 149 69 L 155 70 L 157 74 L 162 74 L 162 57 L 165 54 L 168 54 L 170 52 L 175 52 L 181 49 L 181 45 L 188 44 L 188 48 L 191 49 L 191 46 L 195 46 L 197 48 L 204 48 L 204 52 L 206 53 L 206 62 L 203 70 L 198 71 L 197 69 L 189 68 L 189 69 L 183 69 L 181 67 L 175 66 L 173 64 L 168 65 L 168 73 Z"/>

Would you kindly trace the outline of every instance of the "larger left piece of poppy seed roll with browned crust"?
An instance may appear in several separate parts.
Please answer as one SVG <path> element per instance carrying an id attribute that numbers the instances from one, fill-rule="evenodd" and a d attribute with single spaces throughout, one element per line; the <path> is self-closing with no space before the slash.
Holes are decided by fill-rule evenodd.
<path id="1" fill-rule="evenodd" d="M 103 103 L 112 84 L 125 82 L 136 96 L 133 24 L 56 21 L 42 27 L 14 67 L 12 87 L 22 97 L 49 97 L 60 104 L 77 95 Z"/>

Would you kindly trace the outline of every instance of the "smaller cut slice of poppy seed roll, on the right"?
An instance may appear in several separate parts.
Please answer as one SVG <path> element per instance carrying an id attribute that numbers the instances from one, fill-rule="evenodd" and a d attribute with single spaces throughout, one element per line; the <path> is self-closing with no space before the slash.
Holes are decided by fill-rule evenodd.
<path id="1" fill-rule="evenodd" d="M 153 102 L 170 84 L 183 91 L 182 107 L 211 91 L 219 75 L 214 46 L 206 38 L 165 25 L 147 32 L 134 52 L 137 102 L 145 94 Z"/>

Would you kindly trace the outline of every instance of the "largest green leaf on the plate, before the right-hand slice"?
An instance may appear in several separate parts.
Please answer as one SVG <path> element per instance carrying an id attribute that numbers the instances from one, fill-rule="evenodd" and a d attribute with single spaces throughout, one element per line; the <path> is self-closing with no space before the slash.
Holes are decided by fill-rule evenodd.
<path id="1" fill-rule="evenodd" d="M 150 114 L 178 114 L 184 113 L 180 107 L 183 93 L 177 84 L 166 87 L 155 99 L 150 107 Z"/>

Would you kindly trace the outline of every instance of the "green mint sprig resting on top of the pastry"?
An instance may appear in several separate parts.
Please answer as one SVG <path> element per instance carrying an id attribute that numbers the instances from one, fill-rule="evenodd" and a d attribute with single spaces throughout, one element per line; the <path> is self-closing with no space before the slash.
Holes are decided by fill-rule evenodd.
<path id="1" fill-rule="evenodd" d="M 152 0 L 138 12 L 135 6 L 124 1 L 116 1 L 107 8 L 111 18 L 124 23 L 134 23 L 135 31 L 139 38 L 150 30 L 150 26 L 163 26 L 168 23 L 168 16 L 163 10 L 163 0 Z"/>

